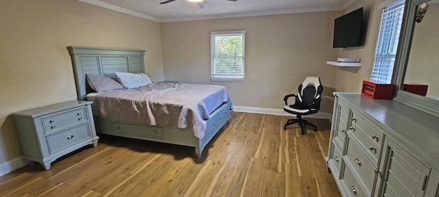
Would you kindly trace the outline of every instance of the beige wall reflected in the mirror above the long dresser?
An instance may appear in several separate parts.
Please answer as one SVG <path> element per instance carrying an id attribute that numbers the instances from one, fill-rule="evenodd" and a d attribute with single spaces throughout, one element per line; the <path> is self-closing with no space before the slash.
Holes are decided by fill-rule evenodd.
<path id="1" fill-rule="evenodd" d="M 427 96 L 439 97 L 439 3 L 432 3 L 421 23 L 415 23 L 404 81 L 427 84 Z"/>

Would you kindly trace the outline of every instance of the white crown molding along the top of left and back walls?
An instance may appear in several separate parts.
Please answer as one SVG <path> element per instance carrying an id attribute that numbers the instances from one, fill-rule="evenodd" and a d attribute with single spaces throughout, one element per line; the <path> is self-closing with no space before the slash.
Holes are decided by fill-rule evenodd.
<path id="1" fill-rule="evenodd" d="M 234 14 L 216 14 L 216 15 L 207 15 L 207 16 L 189 16 L 189 17 L 179 17 L 179 18 L 155 18 L 152 16 L 148 16 L 146 14 L 141 14 L 139 12 L 134 12 L 132 10 L 128 10 L 126 8 L 121 8 L 116 5 L 112 5 L 110 3 L 105 3 L 98 0 L 77 0 L 84 3 L 89 3 L 91 5 L 97 5 L 102 8 L 107 8 L 109 10 L 114 10 L 116 12 L 122 12 L 125 14 L 130 14 L 132 16 L 137 16 L 140 18 L 145 18 L 150 21 L 154 21 L 157 23 L 169 23 L 169 22 L 180 22 L 180 21 L 198 21 L 198 20 L 210 20 L 210 19 L 219 19 L 219 18 L 239 18 L 239 17 L 248 17 L 248 16 L 267 16 L 267 15 L 276 15 L 276 14 L 297 14 L 297 13 L 305 13 L 305 12 L 329 12 L 329 11 L 341 11 L 346 10 L 349 6 L 351 6 L 357 0 L 348 0 L 346 3 L 340 6 L 330 6 L 330 7 L 312 7 L 312 8 L 297 8 L 297 9 L 285 9 L 285 10 L 268 10 L 268 11 L 258 11 L 258 12 L 242 12 L 242 13 L 234 13 Z"/>

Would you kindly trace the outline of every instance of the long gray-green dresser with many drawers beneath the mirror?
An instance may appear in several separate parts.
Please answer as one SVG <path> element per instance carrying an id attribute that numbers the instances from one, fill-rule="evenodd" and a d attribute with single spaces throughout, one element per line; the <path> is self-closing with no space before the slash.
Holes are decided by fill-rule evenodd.
<path id="1" fill-rule="evenodd" d="M 342 196 L 439 196 L 439 118 L 335 92 L 327 165 Z"/>

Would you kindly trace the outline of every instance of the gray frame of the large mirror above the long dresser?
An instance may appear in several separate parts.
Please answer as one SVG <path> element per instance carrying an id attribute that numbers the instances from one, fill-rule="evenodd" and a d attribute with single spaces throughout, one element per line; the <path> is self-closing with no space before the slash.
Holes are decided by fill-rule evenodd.
<path id="1" fill-rule="evenodd" d="M 418 10 L 418 5 L 428 1 L 430 0 L 405 1 L 403 23 L 395 57 L 392 83 L 396 86 L 394 101 L 439 117 L 439 101 L 403 91 L 405 71 L 407 70 L 407 64 L 410 57 L 410 48 L 412 47 L 412 37 L 415 27 L 414 16 L 416 10 Z"/>

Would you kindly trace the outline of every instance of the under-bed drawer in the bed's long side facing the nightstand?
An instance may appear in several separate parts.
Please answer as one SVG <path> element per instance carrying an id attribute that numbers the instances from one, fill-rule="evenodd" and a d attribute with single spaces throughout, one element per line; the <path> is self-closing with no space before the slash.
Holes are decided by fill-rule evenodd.
<path id="1" fill-rule="evenodd" d="M 142 137 L 154 137 L 164 139 L 165 135 L 162 127 L 146 126 L 141 124 L 126 124 L 121 122 L 111 122 L 111 128 L 115 133 L 138 135 Z"/>

